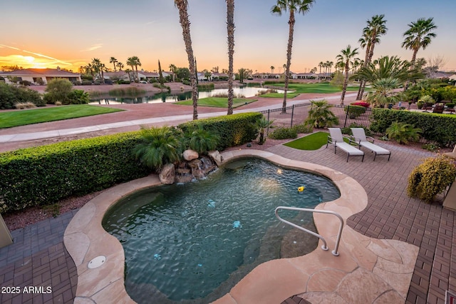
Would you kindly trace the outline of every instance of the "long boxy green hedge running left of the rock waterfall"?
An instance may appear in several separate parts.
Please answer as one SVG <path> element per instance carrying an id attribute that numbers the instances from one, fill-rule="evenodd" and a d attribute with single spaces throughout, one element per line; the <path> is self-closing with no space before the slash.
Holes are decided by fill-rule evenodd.
<path id="1" fill-rule="evenodd" d="M 139 132 L 0 153 L 0 212 L 56 203 L 147 176 L 132 149 Z"/>

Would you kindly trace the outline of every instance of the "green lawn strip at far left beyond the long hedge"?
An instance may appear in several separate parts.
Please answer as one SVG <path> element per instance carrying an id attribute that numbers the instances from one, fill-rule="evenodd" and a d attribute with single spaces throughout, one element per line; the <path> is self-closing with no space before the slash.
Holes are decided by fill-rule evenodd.
<path id="1" fill-rule="evenodd" d="M 25 126 L 32 123 L 46 123 L 48 121 L 61 121 L 63 119 L 93 116 L 118 111 L 123 110 L 120 110 L 118 108 L 91 106 L 88 104 L 34 108 L 31 110 L 22 111 L 7 111 L 0 113 L 0 128 Z"/>

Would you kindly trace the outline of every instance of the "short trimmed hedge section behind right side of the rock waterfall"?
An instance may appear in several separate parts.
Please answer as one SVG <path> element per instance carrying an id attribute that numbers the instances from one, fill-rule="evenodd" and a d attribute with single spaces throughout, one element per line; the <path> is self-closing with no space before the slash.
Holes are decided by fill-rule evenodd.
<path id="1" fill-rule="evenodd" d="M 255 121 L 261 118 L 261 113 L 239 113 L 227 116 L 212 117 L 189 121 L 178 126 L 184 132 L 190 132 L 202 126 L 204 130 L 211 131 L 220 137 L 217 150 L 224 150 L 232 146 L 239 146 L 254 140 L 258 136 Z"/>

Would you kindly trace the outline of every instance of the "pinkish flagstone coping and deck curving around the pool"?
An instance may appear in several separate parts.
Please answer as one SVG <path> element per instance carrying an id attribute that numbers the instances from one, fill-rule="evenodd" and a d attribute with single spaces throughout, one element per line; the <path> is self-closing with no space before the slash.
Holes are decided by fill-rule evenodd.
<path id="1" fill-rule="evenodd" d="M 331 168 L 291 161 L 273 153 L 234 150 L 222 153 L 224 162 L 254 156 L 286 168 L 321 174 L 336 184 L 341 197 L 321 203 L 316 209 L 336 211 L 344 222 L 366 208 L 368 197 L 353 178 Z M 86 203 L 73 217 L 63 237 L 66 249 L 78 272 L 74 303 L 135 303 L 125 291 L 123 247 L 101 223 L 106 211 L 116 202 L 142 188 L 160 185 L 157 175 L 114 186 Z M 270 260 L 254 268 L 232 290 L 214 303 L 281 303 L 293 295 L 311 302 L 405 303 L 418 247 L 398 240 L 378 240 L 344 226 L 339 256 L 331 254 L 339 221 L 335 216 L 314 213 L 318 233 L 330 250 L 320 244 L 313 252 L 297 258 Z M 88 268 L 95 257 L 104 255 L 105 263 Z"/>

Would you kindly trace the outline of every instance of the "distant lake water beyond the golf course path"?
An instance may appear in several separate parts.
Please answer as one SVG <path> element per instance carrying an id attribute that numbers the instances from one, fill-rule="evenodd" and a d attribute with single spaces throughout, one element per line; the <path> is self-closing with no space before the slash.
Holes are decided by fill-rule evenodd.
<path id="1" fill-rule="evenodd" d="M 259 91 L 265 91 L 266 88 L 242 87 L 233 88 L 234 97 L 239 95 L 244 97 L 252 97 L 257 95 Z M 277 90 L 278 93 L 284 91 Z M 227 88 L 215 88 L 210 91 L 199 91 L 198 98 L 206 98 L 217 94 L 228 93 Z M 162 103 L 162 102 L 176 102 L 185 101 L 192 98 L 192 92 L 171 92 L 171 93 L 157 93 L 150 95 L 150 92 L 140 94 L 139 96 L 98 96 L 93 98 L 90 104 L 119 104 L 119 103 Z"/>

